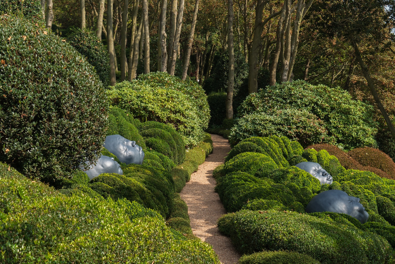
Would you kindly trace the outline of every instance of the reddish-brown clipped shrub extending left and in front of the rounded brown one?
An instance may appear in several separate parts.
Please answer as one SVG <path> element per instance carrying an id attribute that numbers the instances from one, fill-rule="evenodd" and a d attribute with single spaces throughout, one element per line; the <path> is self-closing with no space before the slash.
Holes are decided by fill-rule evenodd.
<path id="1" fill-rule="evenodd" d="M 364 166 L 361 163 L 359 163 L 357 159 L 355 159 L 349 155 L 351 151 L 344 152 L 337 146 L 333 146 L 333 145 L 329 145 L 329 144 L 314 144 L 314 145 L 308 146 L 307 148 L 314 148 L 317 151 L 326 150 L 329 154 L 335 156 L 340 161 L 340 164 L 346 169 L 357 169 L 360 171 L 371 171 L 372 173 L 375 173 L 375 174 L 379 175 L 380 177 L 387 178 L 387 179 L 395 179 L 395 174 L 390 175 L 386 171 L 379 169 L 375 166 L 369 166 L 369 165 Z M 362 149 L 366 149 L 366 148 L 362 148 Z M 378 151 L 380 151 L 380 150 L 378 150 Z M 382 153 L 384 153 L 384 152 L 382 152 Z M 391 158 L 389 158 L 389 159 L 391 159 Z"/>

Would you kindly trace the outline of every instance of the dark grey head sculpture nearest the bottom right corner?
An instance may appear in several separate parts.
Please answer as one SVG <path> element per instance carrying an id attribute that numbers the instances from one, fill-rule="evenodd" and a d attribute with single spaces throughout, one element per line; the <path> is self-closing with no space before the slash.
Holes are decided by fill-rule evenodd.
<path id="1" fill-rule="evenodd" d="M 327 190 L 314 196 L 305 211 L 306 213 L 342 213 L 354 217 L 364 224 L 368 220 L 369 214 L 359 201 L 359 198 L 348 196 L 346 192 L 341 190 Z"/>

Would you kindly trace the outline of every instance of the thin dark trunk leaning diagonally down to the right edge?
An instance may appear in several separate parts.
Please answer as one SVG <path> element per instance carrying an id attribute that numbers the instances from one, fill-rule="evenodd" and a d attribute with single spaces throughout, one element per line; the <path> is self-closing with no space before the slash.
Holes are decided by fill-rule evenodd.
<path id="1" fill-rule="evenodd" d="M 374 101 L 376 101 L 378 109 L 380 110 L 381 114 L 383 115 L 384 120 L 386 120 L 388 130 L 391 132 L 392 138 L 395 139 L 395 128 L 391 122 L 391 119 L 389 118 L 389 116 L 387 114 L 386 109 L 384 108 L 383 104 L 381 103 L 380 98 L 378 97 L 378 94 L 376 92 L 376 89 L 374 88 L 372 79 L 370 77 L 369 70 L 366 68 L 365 63 L 363 63 L 358 45 L 355 42 L 352 42 L 352 46 L 354 46 L 355 58 L 357 59 L 359 66 L 361 66 L 361 70 L 362 70 L 363 75 L 365 76 L 365 79 L 366 79 L 368 86 L 371 90 Z"/>

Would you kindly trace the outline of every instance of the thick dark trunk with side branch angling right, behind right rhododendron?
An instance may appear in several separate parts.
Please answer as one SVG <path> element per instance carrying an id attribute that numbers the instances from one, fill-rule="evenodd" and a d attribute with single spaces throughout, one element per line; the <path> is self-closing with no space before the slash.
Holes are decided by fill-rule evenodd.
<path id="1" fill-rule="evenodd" d="M 255 8 L 254 38 L 252 39 L 250 54 L 248 55 L 248 93 L 256 93 L 258 91 L 259 53 L 261 50 L 261 35 L 265 24 L 280 13 L 273 13 L 262 21 L 263 8 L 265 8 L 267 2 L 268 0 L 258 0 Z"/>

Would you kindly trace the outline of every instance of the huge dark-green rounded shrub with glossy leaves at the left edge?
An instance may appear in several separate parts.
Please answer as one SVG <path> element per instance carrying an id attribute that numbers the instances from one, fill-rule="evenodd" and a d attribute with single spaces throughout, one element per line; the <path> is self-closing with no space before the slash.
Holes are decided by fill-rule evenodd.
<path id="1" fill-rule="evenodd" d="M 52 179 L 96 160 L 108 105 L 93 66 L 23 19 L 2 16 L 0 27 L 0 161 Z"/>

